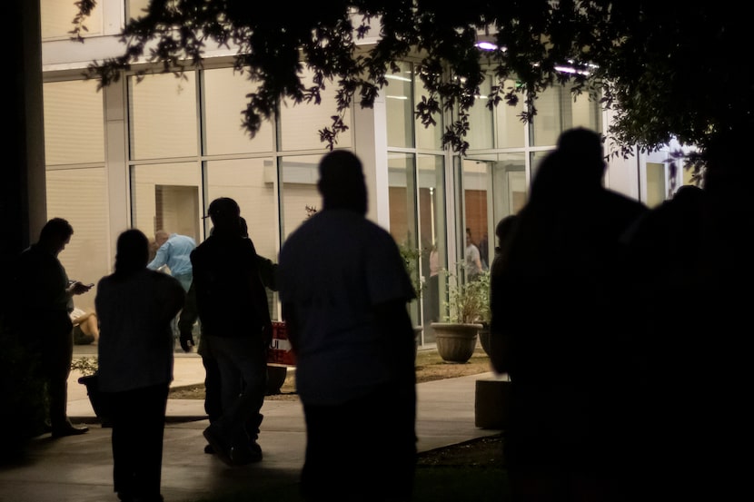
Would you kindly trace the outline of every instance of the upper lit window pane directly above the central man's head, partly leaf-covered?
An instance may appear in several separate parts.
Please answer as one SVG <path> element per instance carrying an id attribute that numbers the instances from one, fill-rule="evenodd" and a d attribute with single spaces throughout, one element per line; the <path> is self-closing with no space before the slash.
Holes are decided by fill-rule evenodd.
<path id="1" fill-rule="evenodd" d="M 309 70 L 303 72 L 304 86 L 313 85 L 312 73 Z M 326 143 L 320 139 L 320 131 L 332 125 L 332 115 L 336 115 L 337 103 L 335 93 L 337 84 L 327 82 L 326 89 L 321 91 L 322 103 L 288 103 L 286 100 L 280 105 L 280 149 L 283 151 L 293 150 L 322 150 Z M 346 113 L 343 123 L 349 129 L 338 135 L 339 148 L 348 148 L 352 145 L 351 114 Z"/>

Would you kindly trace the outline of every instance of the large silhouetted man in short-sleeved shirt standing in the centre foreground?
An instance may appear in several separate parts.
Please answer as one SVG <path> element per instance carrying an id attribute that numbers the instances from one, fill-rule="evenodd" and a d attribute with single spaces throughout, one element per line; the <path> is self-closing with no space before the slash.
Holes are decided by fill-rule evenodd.
<path id="1" fill-rule="evenodd" d="M 322 211 L 283 243 L 278 265 L 306 418 L 302 495 L 407 501 L 416 462 L 412 283 L 391 235 L 365 218 L 362 162 L 335 151 L 319 172 Z"/>

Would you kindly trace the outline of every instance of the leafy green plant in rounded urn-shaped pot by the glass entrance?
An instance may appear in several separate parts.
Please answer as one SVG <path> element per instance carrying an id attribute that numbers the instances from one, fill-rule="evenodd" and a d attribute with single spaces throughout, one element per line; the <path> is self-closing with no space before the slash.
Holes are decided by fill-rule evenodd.
<path id="1" fill-rule="evenodd" d="M 473 281 L 461 281 L 463 263 L 456 273 L 443 271 L 448 279 L 448 302 L 444 322 L 432 322 L 437 353 L 448 362 L 465 363 L 476 349 L 482 322 L 489 320 L 490 272 L 482 272 Z"/>

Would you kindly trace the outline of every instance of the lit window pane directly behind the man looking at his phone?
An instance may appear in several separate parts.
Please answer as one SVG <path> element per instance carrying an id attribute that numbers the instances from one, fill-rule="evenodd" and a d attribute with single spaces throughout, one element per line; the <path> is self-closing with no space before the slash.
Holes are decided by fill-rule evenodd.
<path id="1" fill-rule="evenodd" d="M 60 261 L 71 279 L 84 284 L 112 272 L 109 262 L 109 212 L 107 175 L 104 167 L 48 170 L 47 214 L 60 217 L 74 227 L 71 242 L 60 253 Z M 75 297 L 75 306 L 94 310 L 96 287 Z"/>

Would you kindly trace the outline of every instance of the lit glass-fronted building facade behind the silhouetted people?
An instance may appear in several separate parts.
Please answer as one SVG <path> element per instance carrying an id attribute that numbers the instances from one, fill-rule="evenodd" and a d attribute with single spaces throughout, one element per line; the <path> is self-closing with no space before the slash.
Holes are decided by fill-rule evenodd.
<path id="1" fill-rule="evenodd" d="M 228 50 L 208 49 L 203 68 L 182 79 L 125 73 L 98 90 L 82 70 L 120 54 L 124 19 L 146 4 L 101 0 L 85 43 L 78 44 L 67 33 L 73 2 L 41 0 L 47 215 L 64 217 L 75 229 L 61 261 L 72 278 L 96 282 L 110 273 L 114 242 L 127 228 L 203 241 L 210 229 L 202 215 L 220 196 L 239 202 L 257 250 L 275 261 L 308 208 L 321 204 L 316 168 L 327 149 L 318 131 L 335 112 L 332 86 L 319 105 L 283 103 L 253 138 L 241 115 L 253 83 L 233 73 Z M 415 265 L 429 285 L 431 252 L 442 269 L 452 270 L 463 260 L 466 229 L 489 264 L 496 222 L 521 209 L 532 173 L 561 131 L 584 126 L 604 133 L 610 116 L 597 100 L 574 100 L 568 88 L 557 87 L 541 94 L 535 120 L 521 123 L 520 108 L 487 109 L 490 77 L 471 111 L 471 148 L 461 157 L 441 145 L 449 116 L 438 117 L 433 128 L 414 120 L 422 84 L 411 60 L 399 65 L 401 72 L 389 76 L 372 109 L 354 105 L 336 148 L 362 159 L 368 217 L 404 249 L 420 251 Z M 664 160 L 663 153 L 610 159 L 606 185 L 659 203 L 676 182 Z M 437 291 L 422 288 L 422 299 L 412 303 L 424 345 L 433 343 L 429 323 L 445 308 L 440 282 Z M 81 307 L 93 307 L 86 302 L 93 303 L 94 295 L 84 296 Z M 271 308 L 279 319 L 274 295 Z"/>

